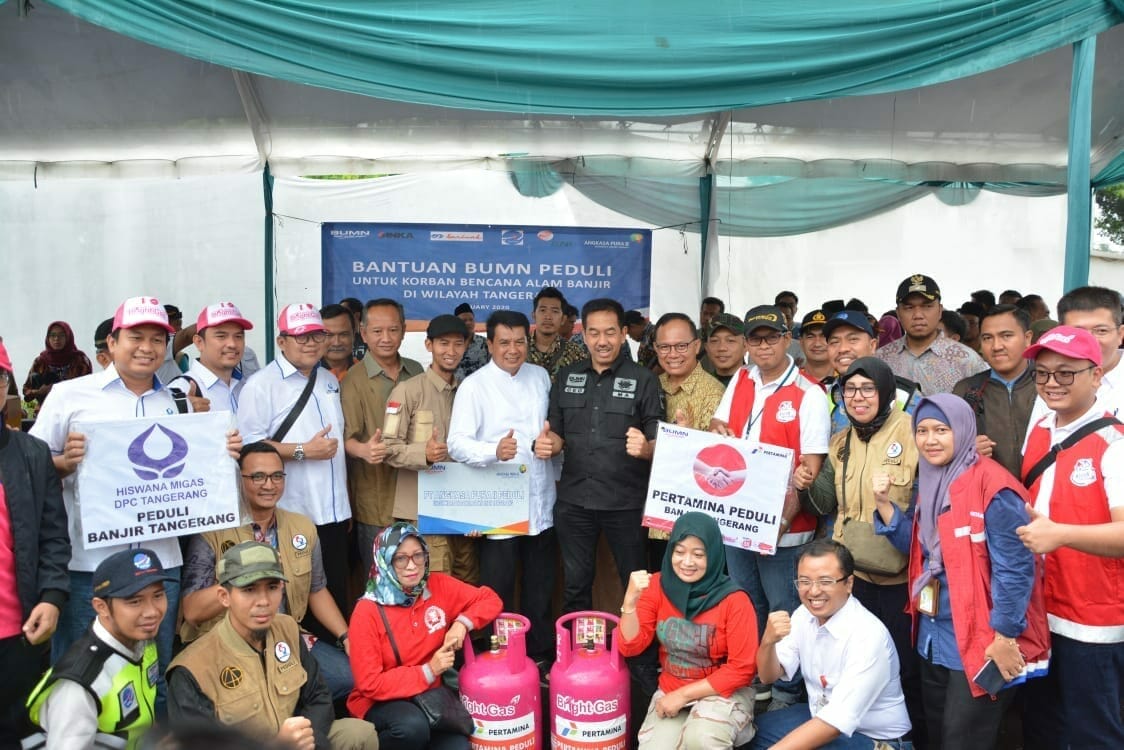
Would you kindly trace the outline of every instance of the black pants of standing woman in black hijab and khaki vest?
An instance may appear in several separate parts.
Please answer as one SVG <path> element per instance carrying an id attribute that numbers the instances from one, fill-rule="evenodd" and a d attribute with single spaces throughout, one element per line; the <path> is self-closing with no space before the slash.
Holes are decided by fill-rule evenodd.
<path id="1" fill-rule="evenodd" d="M 922 658 L 913 645 L 913 617 L 906 612 L 909 604 L 909 584 L 879 586 L 855 576 L 854 588 L 851 589 L 851 593 L 862 606 L 882 621 L 886 630 L 890 632 L 894 648 L 898 652 L 898 661 L 901 665 L 901 692 L 905 694 L 909 723 L 913 724 L 914 743 L 917 748 L 925 748 L 926 722 L 928 720 L 925 715 L 925 701 L 921 687 Z M 928 747 L 936 750 L 940 746 Z"/>

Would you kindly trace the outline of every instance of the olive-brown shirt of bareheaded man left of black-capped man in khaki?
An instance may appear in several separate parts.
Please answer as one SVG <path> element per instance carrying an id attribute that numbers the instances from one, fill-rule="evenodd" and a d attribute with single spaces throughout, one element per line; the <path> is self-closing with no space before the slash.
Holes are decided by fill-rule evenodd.
<path id="1" fill-rule="evenodd" d="M 352 365 L 341 382 L 344 412 L 344 440 L 354 437 L 365 443 L 375 430 L 383 428 L 387 398 L 395 386 L 422 373 L 422 365 L 400 358 L 398 379 L 390 378 L 370 352 Z M 383 430 L 386 433 L 386 430 Z M 387 463 L 370 464 L 347 459 L 347 489 L 353 513 L 359 523 L 387 526 L 393 522 L 395 481 L 398 470 Z"/>

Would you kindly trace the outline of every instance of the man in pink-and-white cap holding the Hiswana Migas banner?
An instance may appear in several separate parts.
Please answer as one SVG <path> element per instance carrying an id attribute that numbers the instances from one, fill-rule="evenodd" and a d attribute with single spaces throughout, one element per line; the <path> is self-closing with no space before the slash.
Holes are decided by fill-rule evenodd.
<path id="1" fill-rule="evenodd" d="M 34 437 L 47 443 L 55 470 L 63 481 L 63 501 L 71 537 L 71 591 L 58 616 L 58 630 L 52 639 L 53 660 L 66 652 L 82 636 L 94 617 L 92 572 L 102 560 L 128 550 L 129 544 L 85 548 L 82 514 L 75 493 L 74 472 L 85 457 L 85 436 L 73 431 L 76 422 L 130 419 L 179 414 L 172 395 L 156 377 L 164 362 L 167 335 L 172 326 L 167 313 L 153 297 L 133 297 L 121 302 L 107 338 L 112 363 L 101 372 L 55 385 L 31 427 Z M 227 450 L 237 455 L 242 439 L 237 431 L 227 436 Z M 133 545 L 135 546 L 135 545 Z M 156 635 L 161 674 L 172 659 L 172 641 L 180 606 L 180 544 L 175 539 L 146 543 L 167 566 L 171 576 L 165 585 L 167 617 Z M 162 679 L 162 678 L 161 678 Z"/>

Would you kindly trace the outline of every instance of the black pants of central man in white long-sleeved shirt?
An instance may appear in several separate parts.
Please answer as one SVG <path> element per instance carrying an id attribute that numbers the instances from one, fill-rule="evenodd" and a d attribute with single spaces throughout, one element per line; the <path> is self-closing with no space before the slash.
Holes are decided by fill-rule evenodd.
<path id="1" fill-rule="evenodd" d="M 551 599 L 558 568 L 558 535 L 547 528 L 535 536 L 486 539 L 480 544 L 480 584 L 504 599 L 505 612 L 518 612 L 531 621 L 527 656 L 534 660 L 554 656 L 554 620 Z M 515 575 L 523 566 L 520 606 L 515 606 Z"/>

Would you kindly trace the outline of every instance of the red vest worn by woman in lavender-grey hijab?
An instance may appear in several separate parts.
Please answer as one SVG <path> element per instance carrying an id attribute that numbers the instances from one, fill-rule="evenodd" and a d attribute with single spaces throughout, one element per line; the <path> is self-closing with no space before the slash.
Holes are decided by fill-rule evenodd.
<path id="1" fill-rule="evenodd" d="M 952 630 L 957 635 L 960 660 L 968 676 L 968 687 L 975 697 L 987 695 L 971 680 L 987 661 L 984 652 L 995 639 L 991 630 L 991 560 L 987 550 L 984 517 L 991 500 L 1001 489 L 1016 493 L 1024 500 L 1026 490 L 996 461 L 980 457 L 979 461 L 957 477 L 949 488 L 951 504 L 936 519 L 941 535 L 941 557 L 949 578 L 949 600 L 952 606 Z M 921 577 L 922 550 L 914 515 L 913 549 L 909 553 L 909 586 Z M 1034 555 L 1034 588 L 1026 607 L 1026 630 L 1016 638 L 1026 660 L 1024 675 L 1044 675 L 1050 661 L 1050 629 L 1046 625 L 1045 598 L 1042 585 L 1042 559 Z M 912 606 L 916 620 L 916 607 Z"/>

